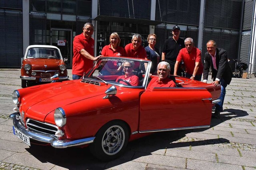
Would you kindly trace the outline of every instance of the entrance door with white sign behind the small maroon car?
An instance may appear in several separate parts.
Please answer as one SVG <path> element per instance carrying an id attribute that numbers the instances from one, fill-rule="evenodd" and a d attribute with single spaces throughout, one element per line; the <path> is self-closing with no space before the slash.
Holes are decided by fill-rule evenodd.
<path id="1" fill-rule="evenodd" d="M 67 68 L 72 66 L 72 29 L 51 29 L 51 45 L 60 49 L 63 58 L 66 61 Z"/>

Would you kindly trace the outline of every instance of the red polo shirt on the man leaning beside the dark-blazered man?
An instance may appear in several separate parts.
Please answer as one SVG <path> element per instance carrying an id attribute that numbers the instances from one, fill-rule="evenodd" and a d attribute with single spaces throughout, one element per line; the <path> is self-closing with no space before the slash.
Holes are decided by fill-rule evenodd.
<path id="1" fill-rule="evenodd" d="M 185 64 L 186 72 L 188 72 L 189 74 L 191 75 L 193 74 L 196 62 L 199 62 L 199 68 L 196 74 L 200 75 L 203 73 L 204 66 L 201 61 L 200 49 L 193 47 L 190 54 L 188 53 L 188 50 L 186 48 L 181 49 L 176 61 L 182 61 L 182 60 Z"/>

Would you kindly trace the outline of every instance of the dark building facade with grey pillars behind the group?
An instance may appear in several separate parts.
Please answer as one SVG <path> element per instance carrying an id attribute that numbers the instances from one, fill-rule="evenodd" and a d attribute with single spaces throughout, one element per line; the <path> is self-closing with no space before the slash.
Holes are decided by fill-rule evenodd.
<path id="1" fill-rule="evenodd" d="M 226 49 L 233 71 L 239 60 L 256 72 L 254 6 L 255 0 L 1 0 L 0 68 L 19 68 L 26 47 L 36 44 L 60 48 L 71 68 L 74 36 L 92 22 L 95 56 L 112 32 L 118 32 L 122 47 L 134 33 L 146 47 L 148 34 L 155 33 L 161 52 L 179 25 L 180 37 L 193 38 L 202 59 L 207 41 L 214 39 Z"/>

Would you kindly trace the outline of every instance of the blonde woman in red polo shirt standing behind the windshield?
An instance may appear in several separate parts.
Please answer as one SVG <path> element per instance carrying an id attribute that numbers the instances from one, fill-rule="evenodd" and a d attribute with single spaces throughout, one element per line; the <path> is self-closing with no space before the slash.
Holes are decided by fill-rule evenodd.
<path id="1" fill-rule="evenodd" d="M 118 33 L 114 32 L 109 37 L 110 44 L 103 47 L 101 51 L 101 55 L 103 56 L 115 56 L 115 57 L 125 57 L 126 52 L 124 48 L 120 47 L 120 37 Z M 108 61 L 105 64 L 104 68 L 101 70 L 101 74 L 104 75 L 112 75 L 112 74 L 119 74 L 121 70 L 121 65 L 119 65 L 116 61 Z"/>

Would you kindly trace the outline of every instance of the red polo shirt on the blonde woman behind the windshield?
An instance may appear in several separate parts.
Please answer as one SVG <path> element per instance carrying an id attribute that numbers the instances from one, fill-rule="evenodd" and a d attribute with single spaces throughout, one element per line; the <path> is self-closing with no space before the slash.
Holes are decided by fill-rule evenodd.
<path id="1" fill-rule="evenodd" d="M 123 47 L 118 46 L 115 50 L 111 48 L 111 44 L 105 45 L 101 51 L 101 55 L 103 56 L 115 56 L 115 57 L 125 57 L 126 53 Z M 110 69 L 118 69 L 118 65 L 116 61 L 110 62 L 108 61 L 108 68 Z M 106 70 L 105 67 L 102 70 Z"/>

